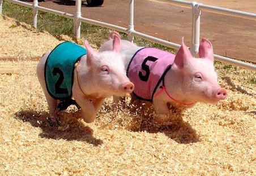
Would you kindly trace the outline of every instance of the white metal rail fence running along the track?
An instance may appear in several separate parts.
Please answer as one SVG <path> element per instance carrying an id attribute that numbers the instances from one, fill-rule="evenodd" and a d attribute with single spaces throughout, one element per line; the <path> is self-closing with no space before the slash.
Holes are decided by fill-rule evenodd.
<path id="1" fill-rule="evenodd" d="M 32 8 L 33 9 L 33 27 L 35 28 L 37 28 L 37 11 L 40 10 L 40 11 L 49 12 L 52 14 L 65 16 L 67 18 L 73 19 L 74 20 L 74 36 L 76 38 L 80 38 L 80 26 L 81 26 L 81 22 L 84 22 L 84 23 L 94 24 L 100 27 L 105 27 L 105 28 L 126 33 L 128 34 L 128 38 L 130 41 L 132 41 L 133 37 L 135 36 L 135 37 L 144 38 L 144 39 L 147 39 L 148 41 L 159 43 L 160 45 L 164 45 L 174 49 L 178 49 L 180 47 L 180 45 L 178 45 L 177 43 L 165 41 L 164 39 L 152 37 L 147 34 L 140 33 L 134 30 L 134 0 L 130 0 L 130 23 L 127 28 L 123 28 L 118 25 L 108 24 L 101 21 L 82 17 L 82 14 L 81 14 L 82 0 L 76 0 L 75 14 L 68 14 L 66 12 L 41 7 L 38 5 L 37 0 L 34 0 L 33 4 L 17 1 L 17 0 L 7 0 L 7 1 Z M 0 15 L 2 14 L 2 2 L 3 0 L 0 0 Z M 197 2 L 187 2 L 187 1 L 180 1 L 180 0 L 169 0 L 168 2 L 173 5 L 191 7 L 191 11 L 193 15 L 192 31 L 191 31 L 191 53 L 193 55 L 198 53 L 199 38 L 200 38 L 200 16 L 202 11 L 208 11 L 216 14 L 223 14 L 223 15 L 229 15 L 229 16 L 242 17 L 245 19 L 256 21 L 256 14 L 249 13 L 249 12 L 231 10 L 228 8 L 221 8 L 221 7 L 215 7 L 215 6 L 208 6 L 208 5 L 203 5 L 202 3 L 197 3 Z M 215 60 L 217 61 L 222 61 L 224 63 L 228 63 L 228 64 L 236 65 L 238 67 L 256 71 L 256 65 L 245 63 L 244 61 L 235 60 L 235 59 L 227 58 L 220 55 L 214 55 L 214 57 L 215 57 Z"/>

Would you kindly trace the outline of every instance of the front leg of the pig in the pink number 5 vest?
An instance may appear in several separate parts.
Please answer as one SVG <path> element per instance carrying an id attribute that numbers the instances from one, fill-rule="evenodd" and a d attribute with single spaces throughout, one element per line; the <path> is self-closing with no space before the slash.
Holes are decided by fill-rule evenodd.
<path id="1" fill-rule="evenodd" d="M 153 99 L 153 106 L 156 111 L 155 121 L 157 123 L 165 122 L 169 120 L 170 110 L 168 108 L 168 102 L 157 97 Z"/>

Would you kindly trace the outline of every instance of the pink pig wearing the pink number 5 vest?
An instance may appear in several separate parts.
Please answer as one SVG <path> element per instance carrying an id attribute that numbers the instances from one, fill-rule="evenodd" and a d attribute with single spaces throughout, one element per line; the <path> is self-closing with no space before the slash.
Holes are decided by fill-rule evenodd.
<path id="1" fill-rule="evenodd" d="M 109 41 L 100 51 L 112 50 L 112 32 Z M 152 102 L 157 117 L 163 122 L 170 117 L 169 104 L 175 108 L 192 107 L 197 102 L 216 103 L 227 96 L 227 91 L 217 82 L 214 68 L 213 48 L 207 39 L 199 46 L 199 58 L 193 58 L 184 43 L 177 54 L 139 47 L 121 40 L 121 53 L 124 55 L 126 74 L 134 83 L 133 102 Z"/>

